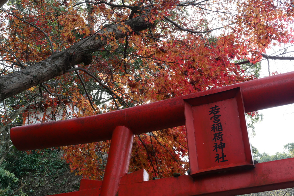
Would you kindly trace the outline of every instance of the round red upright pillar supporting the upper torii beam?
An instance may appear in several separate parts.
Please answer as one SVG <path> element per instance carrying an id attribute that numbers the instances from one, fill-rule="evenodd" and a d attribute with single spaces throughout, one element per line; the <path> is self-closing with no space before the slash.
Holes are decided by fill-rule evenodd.
<path id="1" fill-rule="evenodd" d="M 126 126 L 117 126 L 111 143 L 101 187 L 101 196 L 116 196 L 121 177 L 128 173 L 134 134 Z"/>

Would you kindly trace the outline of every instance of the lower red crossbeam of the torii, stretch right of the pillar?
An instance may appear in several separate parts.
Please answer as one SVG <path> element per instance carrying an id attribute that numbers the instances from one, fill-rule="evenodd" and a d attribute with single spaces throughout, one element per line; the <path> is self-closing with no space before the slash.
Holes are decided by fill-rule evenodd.
<path id="1" fill-rule="evenodd" d="M 294 158 L 255 164 L 252 170 L 190 175 L 120 185 L 118 196 L 231 196 L 294 187 Z"/>

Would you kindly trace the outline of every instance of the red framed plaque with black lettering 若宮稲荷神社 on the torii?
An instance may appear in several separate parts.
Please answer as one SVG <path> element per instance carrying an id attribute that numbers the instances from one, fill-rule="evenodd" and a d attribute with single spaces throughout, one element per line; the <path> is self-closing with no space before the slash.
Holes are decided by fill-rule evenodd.
<path id="1" fill-rule="evenodd" d="M 253 168 L 240 88 L 184 100 L 192 176 Z"/>

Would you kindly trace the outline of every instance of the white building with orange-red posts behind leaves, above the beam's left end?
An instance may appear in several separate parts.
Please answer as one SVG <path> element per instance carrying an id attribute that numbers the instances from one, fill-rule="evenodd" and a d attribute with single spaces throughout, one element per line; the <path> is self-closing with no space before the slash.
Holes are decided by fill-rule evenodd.
<path id="1" fill-rule="evenodd" d="M 40 102 L 36 105 L 30 105 L 24 111 L 23 125 L 70 119 L 79 114 L 83 114 L 83 110 L 79 110 L 71 102 L 64 101 L 63 103 L 56 103 L 54 105 L 54 112 L 52 112 L 52 107 L 46 103 Z"/>

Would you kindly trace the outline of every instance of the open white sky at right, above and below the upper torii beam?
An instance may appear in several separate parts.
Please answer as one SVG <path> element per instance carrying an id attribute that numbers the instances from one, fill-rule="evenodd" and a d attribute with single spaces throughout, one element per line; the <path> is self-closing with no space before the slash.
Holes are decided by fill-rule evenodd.
<path id="1" fill-rule="evenodd" d="M 271 53 L 267 53 L 270 55 Z M 294 71 L 294 61 L 270 61 L 270 72 Z M 268 62 L 262 61 L 260 77 L 268 76 Z M 293 91 L 293 89 L 292 89 Z M 260 153 L 283 152 L 284 145 L 294 143 L 294 104 L 260 110 L 263 121 L 255 125 L 256 135 L 250 136 L 251 145 Z"/>

